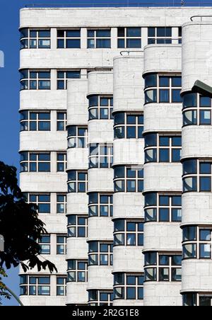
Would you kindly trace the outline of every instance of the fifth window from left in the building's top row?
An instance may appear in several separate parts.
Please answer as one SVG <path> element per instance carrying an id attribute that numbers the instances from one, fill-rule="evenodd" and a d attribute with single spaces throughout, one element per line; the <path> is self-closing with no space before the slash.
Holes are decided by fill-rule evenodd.
<path id="1" fill-rule="evenodd" d="M 148 45 L 172 43 L 172 28 L 170 27 L 149 27 Z"/>

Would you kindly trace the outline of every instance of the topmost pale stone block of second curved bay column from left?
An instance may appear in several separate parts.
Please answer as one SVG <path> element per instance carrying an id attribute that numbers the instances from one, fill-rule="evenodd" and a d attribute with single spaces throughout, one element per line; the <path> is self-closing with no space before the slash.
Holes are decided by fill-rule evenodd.
<path id="1" fill-rule="evenodd" d="M 110 94 L 113 93 L 113 73 L 95 71 L 88 74 L 88 93 L 87 96 L 93 94 Z"/>

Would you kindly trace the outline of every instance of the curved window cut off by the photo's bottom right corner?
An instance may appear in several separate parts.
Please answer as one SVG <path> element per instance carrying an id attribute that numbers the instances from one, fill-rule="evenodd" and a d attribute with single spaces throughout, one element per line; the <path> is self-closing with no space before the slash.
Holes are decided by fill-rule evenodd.
<path id="1" fill-rule="evenodd" d="M 184 307 L 211 307 L 212 292 L 187 292 L 182 294 Z"/>

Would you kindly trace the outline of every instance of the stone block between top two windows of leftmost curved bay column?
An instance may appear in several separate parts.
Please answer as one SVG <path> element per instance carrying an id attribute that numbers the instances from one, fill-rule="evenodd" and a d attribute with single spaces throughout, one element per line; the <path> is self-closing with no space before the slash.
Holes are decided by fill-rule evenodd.
<path id="1" fill-rule="evenodd" d="M 88 148 L 67 149 L 67 170 L 86 170 L 88 168 Z"/>

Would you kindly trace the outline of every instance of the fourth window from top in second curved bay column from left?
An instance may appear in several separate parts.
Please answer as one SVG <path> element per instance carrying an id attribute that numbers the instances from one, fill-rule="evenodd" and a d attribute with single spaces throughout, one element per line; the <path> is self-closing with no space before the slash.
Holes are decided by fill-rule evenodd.
<path id="1" fill-rule="evenodd" d="M 111 243 L 100 241 L 88 242 L 88 265 L 112 265 Z"/>

